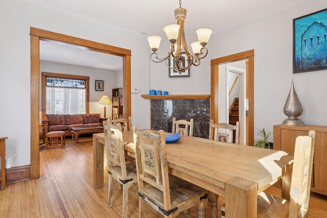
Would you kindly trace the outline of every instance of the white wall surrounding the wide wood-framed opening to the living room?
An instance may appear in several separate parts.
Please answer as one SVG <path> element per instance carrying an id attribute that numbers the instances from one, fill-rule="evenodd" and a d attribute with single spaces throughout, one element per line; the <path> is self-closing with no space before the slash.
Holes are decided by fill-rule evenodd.
<path id="1" fill-rule="evenodd" d="M 31 157 L 30 27 L 131 50 L 131 86 L 140 89 L 140 93 L 132 95 L 131 99 L 132 122 L 139 129 L 150 127 L 150 104 L 140 96 L 149 90 L 149 50 L 145 37 L 20 0 L 2 0 L 0 90 L 3 94 L 0 95 L 0 134 L 8 137 L 7 156 L 17 155 L 12 166 L 28 165 Z M 13 101 L 17 97 L 19 101 Z"/>

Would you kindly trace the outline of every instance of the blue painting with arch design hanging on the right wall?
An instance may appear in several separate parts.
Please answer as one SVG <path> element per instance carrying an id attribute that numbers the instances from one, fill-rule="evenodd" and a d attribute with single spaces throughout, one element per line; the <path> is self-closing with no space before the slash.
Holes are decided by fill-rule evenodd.
<path id="1" fill-rule="evenodd" d="M 327 69 L 327 9 L 293 19 L 293 74 Z"/>

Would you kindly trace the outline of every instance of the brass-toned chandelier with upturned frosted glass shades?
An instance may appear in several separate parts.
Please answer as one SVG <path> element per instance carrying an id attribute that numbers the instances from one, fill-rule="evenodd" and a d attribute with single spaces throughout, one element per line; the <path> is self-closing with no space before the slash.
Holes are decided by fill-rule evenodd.
<path id="1" fill-rule="evenodd" d="M 160 45 L 161 37 L 148 37 L 149 45 L 153 52 L 151 54 L 151 60 L 155 63 L 160 63 L 166 60 L 166 65 L 179 73 L 189 69 L 192 65 L 200 65 L 200 59 L 205 58 L 205 56 L 208 54 L 208 50 L 205 45 L 209 41 L 210 35 L 213 32 L 211 29 L 207 28 L 201 28 L 196 31 L 198 41 L 191 43 L 193 51 L 192 54 L 185 40 L 184 21 L 186 17 L 186 9 L 182 8 L 181 4 L 182 1 L 180 0 L 179 8 L 174 11 L 177 24 L 168 25 L 164 28 L 167 38 L 172 43 L 167 57 L 162 59 L 158 58 L 158 54 L 156 53 Z M 174 60 L 174 64 L 172 66 L 169 64 L 171 58 Z"/>

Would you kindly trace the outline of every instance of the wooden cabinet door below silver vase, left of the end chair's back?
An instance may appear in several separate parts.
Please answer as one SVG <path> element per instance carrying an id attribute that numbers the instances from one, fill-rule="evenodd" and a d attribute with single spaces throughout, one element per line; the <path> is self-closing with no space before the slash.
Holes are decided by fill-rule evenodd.
<path id="1" fill-rule="evenodd" d="M 308 131 L 282 129 L 281 150 L 293 154 L 295 149 L 295 140 L 299 135 L 308 135 Z"/>

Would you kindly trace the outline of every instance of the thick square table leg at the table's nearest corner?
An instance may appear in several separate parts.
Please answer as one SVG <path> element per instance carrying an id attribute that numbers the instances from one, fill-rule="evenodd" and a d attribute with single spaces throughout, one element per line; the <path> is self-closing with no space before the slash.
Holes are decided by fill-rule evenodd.
<path id="1" fill-rule="evenodd" d="M 256 217 L 258 184 L 240 177 L 225 183 L 225 217 Z"/>

